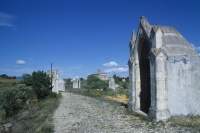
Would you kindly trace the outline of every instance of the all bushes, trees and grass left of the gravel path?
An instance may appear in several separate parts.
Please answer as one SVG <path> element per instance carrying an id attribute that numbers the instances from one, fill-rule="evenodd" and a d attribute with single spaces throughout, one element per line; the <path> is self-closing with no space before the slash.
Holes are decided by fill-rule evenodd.
<path id="1" fill-rule="evenodd" d="M 45 72 L 0 82 L 0 132 L 53 132 L 52 115 L 61 95 L 51 91 Z"/>

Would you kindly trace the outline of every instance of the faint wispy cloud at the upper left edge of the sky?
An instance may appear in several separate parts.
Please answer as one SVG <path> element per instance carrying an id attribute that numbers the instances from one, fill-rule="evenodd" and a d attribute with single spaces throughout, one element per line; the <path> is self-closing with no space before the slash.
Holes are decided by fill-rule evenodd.
<path id="1" fill-rule="evenodd" d="M 0 26 L 5 26 L 5 27 L 15 27 L 12 24 L 12 21 L 15 19 L 14 16 L 0 12 Z"/>

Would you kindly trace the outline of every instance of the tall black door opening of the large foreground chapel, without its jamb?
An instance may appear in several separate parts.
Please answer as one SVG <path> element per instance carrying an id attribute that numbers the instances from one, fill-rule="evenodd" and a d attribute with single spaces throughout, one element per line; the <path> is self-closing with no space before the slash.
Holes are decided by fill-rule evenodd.
<path id="1" fill-rule="evenodd" d="M 150 48 L 147 41 L 144 41 L 141 46 L 139 58 L 141 81 L 140 110 L 148 114 L 151 105 L 150 63 L 148 59 Z"/>

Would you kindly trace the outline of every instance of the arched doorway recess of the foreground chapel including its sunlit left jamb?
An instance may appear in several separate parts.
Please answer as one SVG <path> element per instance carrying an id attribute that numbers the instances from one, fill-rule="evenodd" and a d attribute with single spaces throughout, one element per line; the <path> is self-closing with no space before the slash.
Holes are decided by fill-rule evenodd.
<path id="1" fill-rule="evenodd" d="M 149 113 L 151 105 L 151 76 L 149 53 L 151 45 L 144 37 L 138 43 L 138 64 L 136 65 L 136 102 L 137 108 L 144 113 Z M 138 95 L 138 97 L 137 97 Z"/>

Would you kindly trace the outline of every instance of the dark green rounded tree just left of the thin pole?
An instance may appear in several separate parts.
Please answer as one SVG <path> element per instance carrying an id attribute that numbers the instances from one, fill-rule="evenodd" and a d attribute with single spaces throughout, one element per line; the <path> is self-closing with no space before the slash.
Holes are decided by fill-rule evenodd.
<path id="1" fill-rule="evenodd" d="M 32 73 L 32 86 L 38 99 L 44 99 L 52 90 L 50 77 L 43 71 Z"/>

